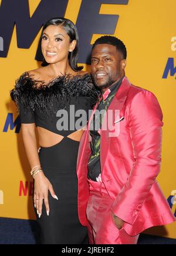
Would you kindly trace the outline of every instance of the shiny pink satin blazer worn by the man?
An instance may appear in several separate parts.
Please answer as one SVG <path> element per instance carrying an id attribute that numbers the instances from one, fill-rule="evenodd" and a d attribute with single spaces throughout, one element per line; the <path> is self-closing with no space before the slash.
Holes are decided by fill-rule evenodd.
<path id="1" fill-rule="evenodd" d="M 111 126 L 101 130 L 101 179 L 113 199 L 111 210 L 123 219 L 129 235 L 175 221 L 156 180 L 160 172 L 163 126 L 163 114 L 156 97 L 150 91 L 133 86 L 124 77 L 108 110 L 120 111 L 118 120 L 113 115 Z M 108 113 L 103 124 L 107 120 Z M 87 129 L 80 141 L 77 159 L 78 212 L 82 225 L 87 225 L 90 153 Z"/>

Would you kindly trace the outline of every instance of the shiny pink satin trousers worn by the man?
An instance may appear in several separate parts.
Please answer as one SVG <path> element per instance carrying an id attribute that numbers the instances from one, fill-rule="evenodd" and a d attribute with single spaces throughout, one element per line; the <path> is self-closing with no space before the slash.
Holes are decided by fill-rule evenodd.
<path id="1" fill-rule="evenodd" d="M 139 235 L 131 237 L 124 228 L 119 230 L 114 225 L 110 209 L 113 200 L 103 182 L 88 181 L 90 196 L 86 213 L 90 244 L 137 244 Z"/>

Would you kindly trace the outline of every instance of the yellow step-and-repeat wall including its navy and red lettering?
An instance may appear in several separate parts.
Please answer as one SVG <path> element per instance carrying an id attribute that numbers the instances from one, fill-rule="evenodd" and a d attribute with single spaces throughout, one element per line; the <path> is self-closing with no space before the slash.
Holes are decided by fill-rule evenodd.
<path id="1" fill-rule="evenodd" d="M 90 70 L 89 54 L 96 38 L 115 35 L 126 44 L 126 76 L 136 86 L 152 91 L 163 110 L 162 165 L 157 179 L 176 216 L 175 9 L 175 0 L 0 1 L 1 217 L 35 219 L 30 166 L 18 111 L 9 91 L 24 71 L 40 66 L 38 43 L 42 25 L 53 17 L 69 18 L 76 24 L 79 63 L 84 70 Z M 176 224 L 145 232 L 176 238 Z"/>

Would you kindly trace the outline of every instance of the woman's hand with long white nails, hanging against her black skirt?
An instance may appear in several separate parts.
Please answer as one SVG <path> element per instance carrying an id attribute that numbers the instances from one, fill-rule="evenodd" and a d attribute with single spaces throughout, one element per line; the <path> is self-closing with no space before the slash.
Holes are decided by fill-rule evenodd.
<path id="1" fill-rule="evenodd" d="M 53 190 L 52 184 L 49 182 L 43 172 L 37 173 L 33 178 L 35 179 L 33 201 L 40 218 L 40 216 L 42 215 L 43 199 L 46 207 L 46 214 L 49 215 L 48 191 L 53 198 L 57 200 L 58 198 L 55 194 L 55 191 Z"/>

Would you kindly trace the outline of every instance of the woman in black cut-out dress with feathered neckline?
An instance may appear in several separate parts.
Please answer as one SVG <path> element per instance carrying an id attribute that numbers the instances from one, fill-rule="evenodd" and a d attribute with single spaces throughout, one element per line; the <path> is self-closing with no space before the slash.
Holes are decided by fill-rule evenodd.
<path id="1" fill-rule="evenodd" d="M 46 22 L 41 48 L 42 67 L 23 73 L 11 91 L 31 165 L 33 204 L 42 244 L 82 244 L 87 230 L 77 214 L 76 161 L 97 93 L 90 74 L 77 66 L 79 39 L 72 21 L 53 18 Z M 81 116 L 75 117 L 77 110 L 86 113 L 82 122 Z"/>

